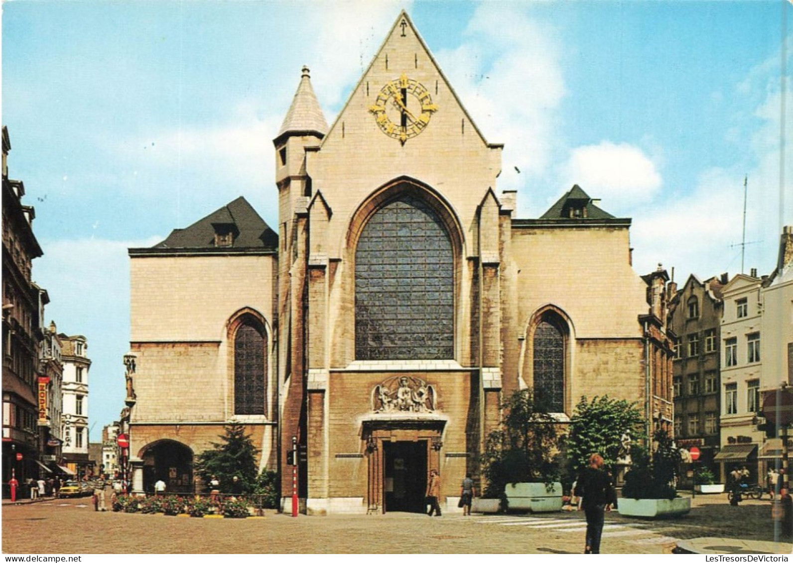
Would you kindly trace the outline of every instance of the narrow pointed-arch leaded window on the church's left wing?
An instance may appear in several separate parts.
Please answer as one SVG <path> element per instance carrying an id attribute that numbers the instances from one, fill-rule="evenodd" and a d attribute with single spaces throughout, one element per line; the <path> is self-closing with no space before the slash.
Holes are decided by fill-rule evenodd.
<path id="1" fill-rule="evenodd" d="M 251 324 L 241 324 L 234 336 L 234 412 L 266 414 L 266 339 Z"/>

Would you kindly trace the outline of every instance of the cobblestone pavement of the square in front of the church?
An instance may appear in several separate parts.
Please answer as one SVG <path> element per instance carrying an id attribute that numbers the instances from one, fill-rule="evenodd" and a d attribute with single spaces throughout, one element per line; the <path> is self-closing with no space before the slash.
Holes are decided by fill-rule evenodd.
<path id="1" fill-rule="evenodd" d="M 768 500 L 730 507 L 698 496 L 681 519 L 606 516 L 603 553 L 672 553 L 703 536 L 773 541 Z M 541 515 L 299 516 L 192 519 L 95 512 L 90 499 L 2 507 L 3 553 L 581 553 L 582 512 Z M 46 532 L 42 532 L 46 530 Z M 790 553 L 780 544 L 780 553 Z"/>

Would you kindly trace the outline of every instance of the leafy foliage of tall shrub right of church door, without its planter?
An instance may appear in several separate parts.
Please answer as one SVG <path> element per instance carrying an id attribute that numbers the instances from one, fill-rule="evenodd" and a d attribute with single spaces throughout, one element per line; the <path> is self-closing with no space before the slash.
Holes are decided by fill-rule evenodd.
<path id="1" fill-rule="evenodd" d="M 531 389 L 515 391 L 501 408 L 504 419 L 485 445 L 485 496 L 500 498 L 508 483 L 557 481 L 556 419 Z"/>

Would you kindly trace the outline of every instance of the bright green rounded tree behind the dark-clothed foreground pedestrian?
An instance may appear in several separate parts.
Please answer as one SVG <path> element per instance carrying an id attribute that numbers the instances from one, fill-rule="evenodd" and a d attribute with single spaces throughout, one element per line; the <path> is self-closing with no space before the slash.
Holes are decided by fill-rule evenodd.
<path id="1" fill-rule="evenodd" d="M 642 412 L 635 403 L 610 399 L 607 395 L 596 396 L 591 401 L 582 396 L 570 420 L 566 440 L 569 471 L 573 475 L 580 473 L 592 454 L 603 456 L 603 462 L 611 467 L 623 447 L 623 435 L 628 433 L 635 440 L 641 435 L 643 424 Z M 631 444 L 631 454 L 634 445 Z"/>

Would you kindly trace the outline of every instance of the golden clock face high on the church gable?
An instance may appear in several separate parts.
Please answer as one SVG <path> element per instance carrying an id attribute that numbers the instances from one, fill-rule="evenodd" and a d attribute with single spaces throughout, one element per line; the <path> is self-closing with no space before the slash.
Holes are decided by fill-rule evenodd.
<path id="1" fill-rule="evenodd" d="M 401 75 L 382 87 L 369 111 L 382 132 L 404 144 L 427 127 L 438 106 L 420 82 Z"/>

